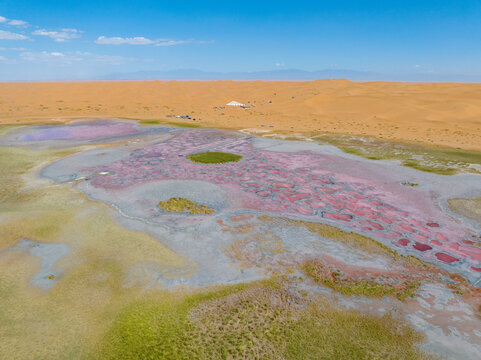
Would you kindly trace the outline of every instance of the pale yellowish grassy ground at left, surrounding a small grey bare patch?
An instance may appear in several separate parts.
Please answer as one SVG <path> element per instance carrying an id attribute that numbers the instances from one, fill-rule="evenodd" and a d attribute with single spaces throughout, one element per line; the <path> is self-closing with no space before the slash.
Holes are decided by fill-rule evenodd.
<path id="1" fill-rule="evenodd" d="M 148 266 L 166 278 L 195 271 L 154 237 L 119 225 L 108 206 L 34 175 L 67 153 L 0 147 L 1 359 L 91 359 L 115 314 L 154 280 L 152 273 L 129 280 L 126 269 Z M 75 249 L 57 263 L 62 276 L 48 292 L 30 283 L 38 257 L 3 252 L 22 238 Z"/>

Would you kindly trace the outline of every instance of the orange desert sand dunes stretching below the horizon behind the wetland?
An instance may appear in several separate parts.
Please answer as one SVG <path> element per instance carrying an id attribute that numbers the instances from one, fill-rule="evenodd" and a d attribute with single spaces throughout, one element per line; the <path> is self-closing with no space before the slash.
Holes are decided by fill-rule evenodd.
<path id="1" fill-rule="evenodd" d="M 251 107 L 218 109 L 232 100 Z M 189 115 L 192 120 L 172 118 L 176 115 Z M 57 123 L 78 117 L 352 134 L 481 150 L 481 84 L 347 80 L 0 83 L 0 124 Z"/>

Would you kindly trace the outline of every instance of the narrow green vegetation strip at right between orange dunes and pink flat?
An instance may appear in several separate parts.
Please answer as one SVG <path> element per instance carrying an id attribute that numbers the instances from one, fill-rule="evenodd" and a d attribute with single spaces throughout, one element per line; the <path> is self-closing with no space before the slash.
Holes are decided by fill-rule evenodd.
<path id="1" fill-rule="evenodd" d="M 399 160 L 403 166 L 440 175 L 481 173 L 481 152 L 426 147 L 415 143 L 383 141 L 369 137 L 322 135 L 314 140 L 337 146 L 346 153 L 371 160 Z"/>

